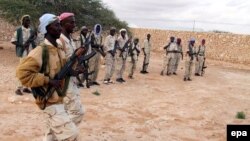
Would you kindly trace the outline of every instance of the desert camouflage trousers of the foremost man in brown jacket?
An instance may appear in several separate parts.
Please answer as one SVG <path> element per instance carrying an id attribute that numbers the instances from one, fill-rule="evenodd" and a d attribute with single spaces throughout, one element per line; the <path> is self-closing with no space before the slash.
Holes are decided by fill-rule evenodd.
<path id="1" fill-rule="evenodd" d="M 64 104 L 54 104 L 44 110 L 46 133 L 43 141 L 78 141 L 79 131 L 70 119 Z"/>

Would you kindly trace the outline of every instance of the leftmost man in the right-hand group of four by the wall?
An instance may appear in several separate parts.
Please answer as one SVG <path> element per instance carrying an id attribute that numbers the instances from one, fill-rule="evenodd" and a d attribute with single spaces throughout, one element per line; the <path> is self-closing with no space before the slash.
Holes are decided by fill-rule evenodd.
<path id="1" fill-rule="evenodd" d="M 161 75 L 164 75 L 167 67 L 167 75 L 171 75 L 174 73 L 175 67 L 175 56 L 177 53 L 177 45 L 174 42 L 174 37 L 170 37 L 170 43 L 164 47 L 166 50 L 166 56 L 164 58 L 163 69 L 161 71 Z"/>

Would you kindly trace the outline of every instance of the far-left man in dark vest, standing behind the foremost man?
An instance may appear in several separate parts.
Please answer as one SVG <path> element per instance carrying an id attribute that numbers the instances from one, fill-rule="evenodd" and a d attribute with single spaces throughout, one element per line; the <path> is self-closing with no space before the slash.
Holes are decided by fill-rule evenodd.
<path id="1" fill-rule="evenodd" d="M 11 39 L 11 43 L 16 45 L 16 55 L 20 58 L 20 62 L 23 58 L 28 56 L 29 52 L 36 47 L 35 39 L 36 33 L 30 28 L 30 16 L 24 15 L 21 18 L 21 27 L 18 27 L 14 33 L 14 37 Z M 23 87 L 20 81 L 17 81 L 17 95 L 23 95 L 25 93 L 31 93 L 31 91 Z"/>

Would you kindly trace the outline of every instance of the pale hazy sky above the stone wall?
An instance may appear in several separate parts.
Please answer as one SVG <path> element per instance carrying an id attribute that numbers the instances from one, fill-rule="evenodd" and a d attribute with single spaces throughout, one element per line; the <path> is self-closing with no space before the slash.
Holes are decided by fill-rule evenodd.
<path id="1" fill-rule="evenodd" d="M 131 27 L 250 34 L 250 0 L 102 1 Z"/>

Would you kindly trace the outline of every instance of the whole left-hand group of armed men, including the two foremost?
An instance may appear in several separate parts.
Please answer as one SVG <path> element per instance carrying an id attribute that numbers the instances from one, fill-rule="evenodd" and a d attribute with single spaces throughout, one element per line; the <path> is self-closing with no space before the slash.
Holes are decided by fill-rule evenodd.
<path id="1" fill-rule="evenodd" d="M 22 16 L 22 25 L 17 28 L 11 40 L 16 46 L 16 55 L 20 58 L 16 69 L 18 88 L 15 93 L 17 95 L 22 95 L 23 92 L 33 93 L 36 104 L 45 115 L 44 141 L 76 141 L 79 140 L 77 126 L 84 115 L 79 86 L 88 80 L 90 85 L 99 85 L 96 80 L 101 56 L 105 57 L 106 64 L 104 84 L 113 83 L 111 78 L 115 66 L 116 81 L 125 82 L 123 73 L 126 59 L 130 64 L 128 77 L 132 79 L 140 54 L 139 39 L 135 38 L 132 41 L 132 37 L 128 38 L 126 29 L 121 29 L 120 35 L 116 37 L 116 29 L 112 27 L 110 34 L 102 43 L 102 27 L 96 24 L 93 32 L 89 32 L 88 28 L 83 26 L 80 37 L 75 42 L 72 38 L 76 27 L 75 16 L 68 12 L 59 16 L 43 14 L 39 22 L 39 34 L 37 34 L 30 27 L 31 17 Z M 148 34 L 142 48 L 144 63 L 141 73 L 148 73 L 150 37 Z M 87 56 L 91 52 L 95 52 L 94 57 L 82 62 L 83 64 L 75 62 L 67 77 L 63 80 L 55 79 L 56 74 L 72 59 L 72 56 L 75 55 L 80 60 L 82 56 Z M 86 67 L 88 72 L 84 73 Z M 90 78 L 86 77 L 86 74 L 90 73 Z M 56 91 L 46 98 L 44 93 L 49 87 L 56 88 Z M 34 88 L 39 88 L 40 93 L 34 92 Z"/>

